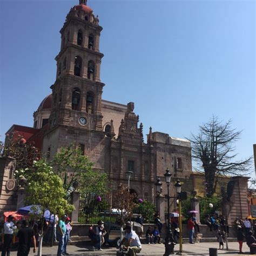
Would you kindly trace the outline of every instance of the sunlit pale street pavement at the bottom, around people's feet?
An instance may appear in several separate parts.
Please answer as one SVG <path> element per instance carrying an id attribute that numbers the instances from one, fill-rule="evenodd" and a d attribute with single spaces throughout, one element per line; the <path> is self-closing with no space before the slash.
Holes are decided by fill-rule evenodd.
<path id="1" fill-rule="evenodd" d="M 229 256 L 232 255 L 241 255 L 239 254 L 238 250 L 238 242 L 229 242 L 228 247 L 230 251 L 226 250 L 218 250 L 218 255 L 223 255 L 223 254 L 228 254 Z M 183 250 L 187 255 L 209 255 L 209 248 L 219 248 L 219 243 L 218 242 L 200 242 L 197 244 L 183 244 Z M 57 254 L 57 246 L 53 247 L 43 247 L 42 250 L 42 255 L 56 255 Z M 224 245 L 224 248 L 226 246 Z M 246 243 L 244 242 L 243 246 L 243 252 L 246 252 L 242 255 L 250 255 L 250 250 Z M 117 248 L 114 247 L 103 247 L 103 251 L 90 251 L 91 247 L 89 246 L 75 246 L 75 245 L 68 245 L 68 252 L 71 255 L 88 255 L 88 256 L 97 256 L 97 255 L 116 255 Z M 176 245 L 174 247 L 175 253 L 179 250 L 179 245 Z M 138 253 L 138 256 L 143 256 L 143 255 L 163 255 L 165 251 L 164 245 L 163 244 L 156 244 L 156 245 L 147 245 L 143 244 L 142 245 L 142 251 Z M 17 252 L 11 252 L 11 256 L 16 256 Z M 33 254 L 32 250 L 30 250 L 29 256 L 35 255 Z"/>

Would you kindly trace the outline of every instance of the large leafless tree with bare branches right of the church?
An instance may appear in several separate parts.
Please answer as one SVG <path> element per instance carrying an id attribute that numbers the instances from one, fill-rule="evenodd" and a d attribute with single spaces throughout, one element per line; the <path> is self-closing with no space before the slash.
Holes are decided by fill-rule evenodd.
<path id="1" fill-rule="evenodd" d="M 191 135 L 192 158 L 201 166 L 197 170 L 204 171 L 207 197 L 215 193 L 219 175 L 245 174 L 250 169 L 252 157 L 235 160 L 234 142 L 240 138 L 242 131 L 235 131 L 231 124 L 231 120 L 223 123 L 213 116 L 210 122 L 199 126 L 197 135 Z"/>

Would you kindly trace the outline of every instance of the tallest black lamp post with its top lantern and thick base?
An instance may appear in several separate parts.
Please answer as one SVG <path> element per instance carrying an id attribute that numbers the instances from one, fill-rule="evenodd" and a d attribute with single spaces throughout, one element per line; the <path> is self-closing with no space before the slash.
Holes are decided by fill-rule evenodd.
<path id="1" fill-rule="evenodd" d="M 165 182 L 167 185 L 167 202 L 168 202 L 168 231 L 165 238 L 165 256 L 174 254 L 174 240 L 171 230 L 171 224 L 170 224 L 170 194 L 169 194 L 169 186 L 171 183 L 171 176 L 169 169 L 166 169 L 166 173 L 164 174 Z M 171 242 L 171 244 L 169 244 Z"/>

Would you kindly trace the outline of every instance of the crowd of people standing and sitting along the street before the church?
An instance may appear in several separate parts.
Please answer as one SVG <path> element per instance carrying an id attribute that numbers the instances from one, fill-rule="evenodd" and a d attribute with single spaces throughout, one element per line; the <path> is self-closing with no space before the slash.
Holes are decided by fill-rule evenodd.
<path id="1" fill-rule="evenodd" d="M 41 230 L 44 233 L 44 241 L 58 241 L 57 256 L 68 255 L 67 245 L 70 239 L 70 232 L 72 231 L 71 219 L 64 215 L 62 218 L 58 218 L 57 215 L 52 215 L 49 220 L 34 220 L 29 222 L 24 219 L 19 223 L 14 221 L 14 216 L 9 215 L 4 223 L 4 239 L 2 245 L 2 256 L 10 255 L 10 247 L 13 239 L 14 231 L 18 238 L 18 250 L 17 256 L 27 256 L 30 252 L 31 245 L 33 246 L 33 252 L 36 252 L 38 235 Z M 224 242 L 226 241 L 228 225 L 225 217 L 221 215 L 207 215 L 205 218 L 206 224 L 211 232 L 215 232 L 215 237 L 219 242 L 219 249 L 224 249 Z M 166 221 L 168 222 L 168 221 Z M 128 255 L 136 255 L 136 253 L 142 250 L 142 244 L 140 238 L 143 233 L 143 218 L 139 218 L 140 228 L 137 233 L 133 230 L 130 221 L 127 221 L 124 226 L 124 239 L 120 243 L 122 250 L 127 250 Z M 43 225 L 43 226 L 42 226 Z M 172 230 L 172 239 L 175 244 L 179 239 L 179 225 L 178 218 L 170 217 L 170 225 Z M 243 242 L 246 241 L 248 247 L 256 247 L 255 235 L 256 224 L 252 223 L 252 220 L 245 218 L 245 220 L 236 219 L 234 226 L 237 228 L 237 240 L 239 242 L 239 252 L 242 253 Z M 147 244 L 160 244 L 161 243 L 161 230 L 163 223 L 160 220 L 159 213 L 154 214 L 154 226 L 149 226 L 145 232 Z M 187 230 L 189 232 L 190 243 L 194 244 L 194 238 L 197 233 L 200 233 L 199 225 L 197 223 L 196 214 L 192 214 L 187 221 Z M 106 235 L 106 229 L 102 220 L 98 221 L 96 226 L 90 225 L 89 238 L 92 241 L 92 249 L 102 251 L 102 245 L 104 244 L 104 236 Z"/>

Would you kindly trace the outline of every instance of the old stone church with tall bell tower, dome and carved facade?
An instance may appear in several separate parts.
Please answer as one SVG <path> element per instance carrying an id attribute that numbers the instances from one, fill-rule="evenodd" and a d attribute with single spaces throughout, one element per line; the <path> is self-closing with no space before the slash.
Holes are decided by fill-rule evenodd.
<path id="1" fill-rule="evenodd" d="M 130 172 L 130 188 L 141 197 L 156 196 L 154 183 L 158 177 L 164 181 L 167 168 L 172 182 L 179 178 L 186 184 L 184 189 L 192 191 L 190 142 L 151 127 L 144 142 L 145 131 L 134 103 L 123 105 L 102 98 L 103 88 L 109 90 L 100 80 L 102 30 L 86 0 L 70 9 L 60 30 L 51 95 L 34 112 L 33 127 L 12 125 L 6 133 L 19 132 L 27 141 L 35 141 L 49 160 L 60 147 L 73 143 L 93 161 L 95 169 L 109 174 L 113 188 L 127 184 Z M 174 194 L 174 187 L 171 190 Z"/>

